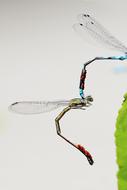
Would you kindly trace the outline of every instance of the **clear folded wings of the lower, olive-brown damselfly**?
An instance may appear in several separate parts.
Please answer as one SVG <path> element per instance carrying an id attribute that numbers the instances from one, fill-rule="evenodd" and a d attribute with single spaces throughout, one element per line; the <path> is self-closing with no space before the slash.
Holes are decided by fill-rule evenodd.
<path id="1" fill-rule="evenodd" d="M 59 101 L 23 101 L 15 102 L 9 106 L 9 111 L 19 114 L 39 114 L 49 112 L 61 106 L 68 105 L 68 100 Z"/>

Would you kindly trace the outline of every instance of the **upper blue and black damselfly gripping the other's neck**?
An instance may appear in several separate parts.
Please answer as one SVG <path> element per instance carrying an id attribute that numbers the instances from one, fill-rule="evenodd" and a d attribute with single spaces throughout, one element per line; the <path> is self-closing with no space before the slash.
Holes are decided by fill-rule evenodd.
<path id="1" fill-rule="evenodd" d="M 122 56 L 111 56 L 111 57 L 95 57 L 92 60 L 89 60 L 84 64 L 81 73 L 80 79 L 80 96 L 84 98 L 84 81 L 85 80 L 85 72 L 86 66 L 96 60 L 126 60 L 127 59 L 127 47 L 122 44 L 117 38 L 110 34 L 98 21 L 96 21 L 93 17 L 88 14 L 80 14 L 78 16 L 79 23 L 74 24 L 74 30 L 80 34 L 81 36 L 91 36 L 99 43 L 106 45 L 114 50 L 122 52 L 124 55 Z M 123 71 L 123 69 L 122 69 Z"/>

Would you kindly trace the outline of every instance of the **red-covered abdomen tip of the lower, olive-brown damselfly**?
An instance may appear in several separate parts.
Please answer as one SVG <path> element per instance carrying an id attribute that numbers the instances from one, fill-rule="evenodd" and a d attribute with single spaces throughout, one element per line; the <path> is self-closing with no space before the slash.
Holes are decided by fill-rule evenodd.
<path id="1" fill-rule="evenodd" d="M 94 161 L 93 158 L 91 156 L 91 154 L 80 144 L 76 145 L 77 149 L 80 150 L 87 158 L 88 162 L 90 165 L 93 165 Z"/>

